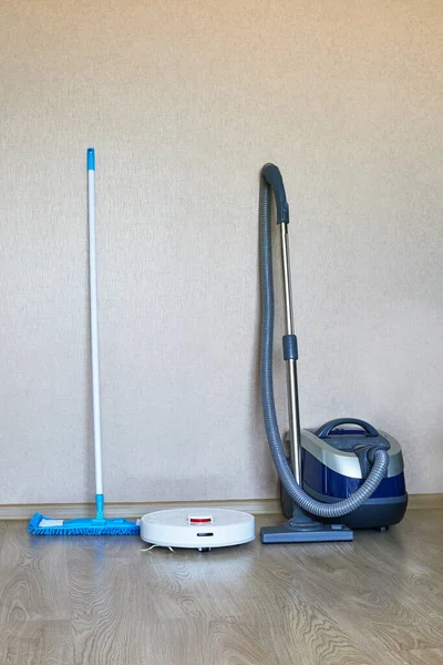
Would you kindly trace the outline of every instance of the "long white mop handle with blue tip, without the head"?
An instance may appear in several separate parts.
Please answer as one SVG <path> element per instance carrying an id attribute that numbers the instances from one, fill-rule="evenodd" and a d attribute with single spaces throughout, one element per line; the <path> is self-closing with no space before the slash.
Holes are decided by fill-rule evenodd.
<path id="1" fill-rule="evenodd" d="M 101 497 L 103 495 L 102 422 L 100 413 L 99 315 L 95 247 L 95 150 L 93 147 L 87 149 L 87 219 L 90 233 L 90 307 L 92 403 L 94 415 L 95 493 Z"/>

